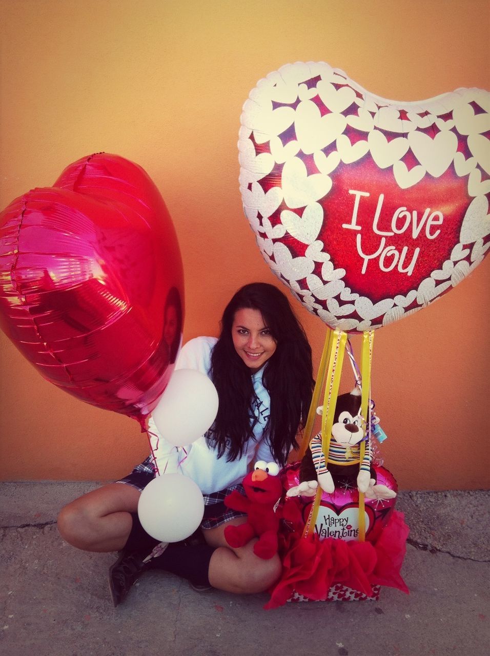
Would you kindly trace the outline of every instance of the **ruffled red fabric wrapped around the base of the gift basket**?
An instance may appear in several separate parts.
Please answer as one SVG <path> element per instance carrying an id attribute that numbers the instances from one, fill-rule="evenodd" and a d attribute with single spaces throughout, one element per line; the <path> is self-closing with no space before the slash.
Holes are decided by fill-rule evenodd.
<path id="1" fill-rule="evenodd" d="M 373 585 L 409 592 L 400 575 L 409 528 L 402 512 L 394 510 L 375 543 L 302 537 L 304 522 L 295 504 L 285 504 L 286 529 L 280 535 L 281 579 L 264 606 L 277 608 L 297 592 L 312 601 L 327 598 L 335 583 L 373 596 Z"/>

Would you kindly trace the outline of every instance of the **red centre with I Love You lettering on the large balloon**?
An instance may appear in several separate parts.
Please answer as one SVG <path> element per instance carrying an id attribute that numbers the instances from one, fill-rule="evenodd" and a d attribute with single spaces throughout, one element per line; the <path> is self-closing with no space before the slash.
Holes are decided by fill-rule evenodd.
<path id="1" fill-rule="evenodd" d="M 467 205 L 466 183 L 453 171 L 424 178 L 401 194 L 392 171 L 380 171 L 366 158 L 339 165 L 318 239 L 335 268 L 348 263 L 346 286 L 378 302 L 407 295 L 442 268 Z"/>

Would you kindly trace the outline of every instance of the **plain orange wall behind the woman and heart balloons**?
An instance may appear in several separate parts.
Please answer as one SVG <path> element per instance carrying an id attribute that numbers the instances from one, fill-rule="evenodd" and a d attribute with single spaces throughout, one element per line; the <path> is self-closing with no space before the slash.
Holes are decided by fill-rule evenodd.
<path id="1" fill-rule="evenodd" d="M 180 240 L 186 340 L 216 334 L 241 284 L 279 284 L 237 182 L 239 115 L 260 77 L 313 60 L 395 100 L 490 87 L 487 0 L 3 0 L 0 11 L 1 207 L 91 152 L 142 165 Z M 376 333 L 382 453 L 402 488 L 488 485 L 489 272 L 490 258 Z M 324 326 L 291 299 L 317 364 Z M 108 480 L 146 455 L 136 422 L 60 392 L 3 334 L 0 365 L 1 479 Z"/>

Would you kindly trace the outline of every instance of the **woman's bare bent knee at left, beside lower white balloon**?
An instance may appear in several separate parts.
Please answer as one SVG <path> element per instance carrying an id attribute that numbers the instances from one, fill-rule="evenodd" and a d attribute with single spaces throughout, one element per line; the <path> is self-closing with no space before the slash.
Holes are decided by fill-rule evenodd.
<path id="1" fill-rule="evenodd" d="M 119 551 L 133 525 L 140 491 L 125 483 L 109 483 L 64 506 L 58 530 L 66 542 L 86 551 Z"/>

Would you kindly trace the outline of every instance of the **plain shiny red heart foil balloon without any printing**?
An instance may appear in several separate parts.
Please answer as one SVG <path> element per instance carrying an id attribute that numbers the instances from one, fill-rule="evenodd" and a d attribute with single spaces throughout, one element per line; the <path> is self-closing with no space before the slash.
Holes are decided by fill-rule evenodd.
<path id="1" fill-rule="evenodd" d="M 45 379 L 144 421 L 174 368 L 184 311 L 171 217 L 117 155 L 68 166 L 0 215 L 0 326 Z"/>

